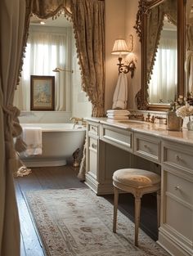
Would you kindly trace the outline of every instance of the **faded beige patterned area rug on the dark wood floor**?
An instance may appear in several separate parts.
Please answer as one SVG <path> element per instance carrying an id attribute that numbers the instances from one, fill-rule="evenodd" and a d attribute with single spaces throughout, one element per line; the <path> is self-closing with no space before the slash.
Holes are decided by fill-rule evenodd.
<path id="1" fill-rule="evenodd" d="M 114 234 L 113 205 L 90 189 L 29 191 L 26 200 L 47 255 L 168 256 L 141 230 L 134 246 L 134 225 L 123 213 Z"/>

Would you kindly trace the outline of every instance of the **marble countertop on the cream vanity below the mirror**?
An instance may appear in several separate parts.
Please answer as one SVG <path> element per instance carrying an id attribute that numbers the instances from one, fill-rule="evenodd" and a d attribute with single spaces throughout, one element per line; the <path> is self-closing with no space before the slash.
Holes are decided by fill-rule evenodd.
<path id="1" fill-rule="evenodd" d="M 134 132 L 143 132 L 152 134 L 158 137 L 165 138 L 171 141 L 177 141 L 193 146 L 193 131 L 188 131 L 183 128 L 182 131 L 168 131 L 165 124 L 152 124 L 137 120 L 114 120 L 107 118 L 88 118 L 88 121 L 93 121 L 100 124 L 106 124 L 115 128 L 129 129 Z"/>

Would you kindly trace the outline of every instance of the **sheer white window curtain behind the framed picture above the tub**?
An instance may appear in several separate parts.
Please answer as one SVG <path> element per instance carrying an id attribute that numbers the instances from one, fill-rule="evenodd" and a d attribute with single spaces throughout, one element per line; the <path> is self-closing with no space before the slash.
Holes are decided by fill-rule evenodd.
<path id="1" fill-rule="evenodd" d="M 62 28 L 61 33 L 55 27 L 47 29 L 29 29 L 22 78 L 17 87 L 14 103 L 20 110 L 30 110 L 30 75 L 55 75 L 55 110 L 67 108 L 66 92 L 70 87 L 71 74 L 55 73 L 56 67 L 70 70 L 71 28 Z"/>

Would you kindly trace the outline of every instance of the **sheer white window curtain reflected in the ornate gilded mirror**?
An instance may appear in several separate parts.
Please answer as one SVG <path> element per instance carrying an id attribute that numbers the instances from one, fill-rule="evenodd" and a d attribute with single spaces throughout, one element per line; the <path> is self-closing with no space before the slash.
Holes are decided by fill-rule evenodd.
<path id="1" fill-rule="evenodd" d="M 170 34 L 168 37 L 167 34 Z M 173 36 L 172 36 L 173 35 Z M 169 103 L 177 95 L 177 36 L 163 31 L 149 83 L 150 103 Z"/>

